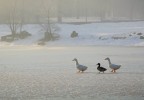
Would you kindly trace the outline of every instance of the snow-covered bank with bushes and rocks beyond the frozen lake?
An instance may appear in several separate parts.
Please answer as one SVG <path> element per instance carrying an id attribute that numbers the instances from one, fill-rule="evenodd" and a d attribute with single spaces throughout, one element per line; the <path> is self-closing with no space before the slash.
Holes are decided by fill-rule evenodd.
<path id="1" fill-rule="evenodd" d="M 117 22 L 117 23 L 91 23 L 91 24 L 58 24 L 60 30 L 57 32 L 60 39 L 47 42 L 47 45 L 124 45 L 144 46 L 144 22 Z M 44 36 L 39 25 L 25 25 L 24 30 L 32 34 L 24 40 L 13 43 L 0 42 L 0 45 L 37 45 Z M 70 38 L 72 31 L 79 33 L 79 37 Z M 142 33 L 138 35 L 138 33 Z M 6 25 L 0 25 L 0 36 L 10 34 Z M 114 39 L 119 38 L 119 39 Z"/>

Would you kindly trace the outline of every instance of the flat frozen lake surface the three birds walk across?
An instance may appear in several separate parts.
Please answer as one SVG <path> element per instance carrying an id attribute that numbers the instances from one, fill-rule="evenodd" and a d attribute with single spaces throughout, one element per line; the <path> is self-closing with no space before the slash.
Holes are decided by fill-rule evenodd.
<path id="1" fill-rule="evenodd" d="M 144 47 L 2 46 L 0 100 L 143 100 Z M 88 66 L 76 73 L 73 58 Z M 121 64 L 112 74 L 108 62 Z M 96 64 L 108 70 L 99 74 Z"/>

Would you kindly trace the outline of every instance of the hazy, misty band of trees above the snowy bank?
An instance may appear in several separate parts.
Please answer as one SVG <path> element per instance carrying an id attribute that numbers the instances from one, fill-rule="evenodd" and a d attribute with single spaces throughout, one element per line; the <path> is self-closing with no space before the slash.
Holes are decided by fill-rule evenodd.
<path id="1" fill-rule="evenodd" d="M 46 16 L 62 22 L 62 18 L 94 18 L 96 21 L 143 20 L 144 0 L 0 0 L 0 22 L 10 14 L 25 23 L 45 21 Z"/>

